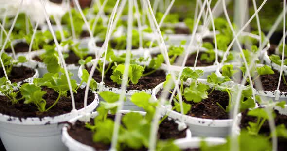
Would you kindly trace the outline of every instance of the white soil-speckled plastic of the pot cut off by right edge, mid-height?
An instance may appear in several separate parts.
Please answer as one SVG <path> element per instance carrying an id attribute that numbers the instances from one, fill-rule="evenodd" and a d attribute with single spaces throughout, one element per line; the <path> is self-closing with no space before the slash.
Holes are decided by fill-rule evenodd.
<path id="1" fill-rule="evenodd" d="M 241 66 L 241 63 L 232 63 L 233 66 L 237 65 L 237 66 Z M 257 67 L 262 67 L 264 66 L 264 64 L 256 64 Z M 273 66 L 274 67 L 274 66 Z M 218 76 L 222 76 L 220 73 L 222 66 L 220 66 L 217 70 L 216 70 L 216 75 Z M 277 70 L 276 68 L 273 68 L 275 70 Z M 280 69 L 279 69 L 280 70 Z M 286 70 L 283 71 L 283 74 L 286 76 L 287 72 Z M 253 89 L 255 95 L 261 96 L 263 98 L 265 98 L 266 100 L 273 100 L 273 101 L 286 101 L 287 102 L 287 92 L 280 92 L 279 94 L 279 100 L 276 100 L 276 92 L 275 91 L 263 91 L 263 90 L 257 90 L 257 89 Z"/>

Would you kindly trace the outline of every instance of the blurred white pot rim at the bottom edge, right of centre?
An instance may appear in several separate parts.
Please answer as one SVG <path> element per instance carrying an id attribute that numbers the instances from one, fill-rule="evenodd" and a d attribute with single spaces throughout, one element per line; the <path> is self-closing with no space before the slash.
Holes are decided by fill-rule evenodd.
<path id="1" fill-rule="evenodd" d="M 175 140 L 175 144 L 180 149 L 196 149 L 200 148 L 201 141 L 205 141 L 207 145 L 219 145 L 226 143 L 226 139 L 220 137 L 192 137 L 191 139 Z"/>

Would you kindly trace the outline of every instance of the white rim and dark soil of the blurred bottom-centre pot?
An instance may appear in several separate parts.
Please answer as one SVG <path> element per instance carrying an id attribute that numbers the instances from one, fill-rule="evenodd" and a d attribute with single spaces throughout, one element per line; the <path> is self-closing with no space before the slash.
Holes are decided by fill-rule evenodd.
<path id="1" fill-rule="evenodd" d="M 123 118 L 128 113 L 139 113 L 144 116 L 145 112 L 136 112 L 129 110 L 121 111 Z M 93 132 L 85 126 L 85 122 L 88 122 L 90 125 L 96 125 L 94 123 L 94 118 L 98 116 L 98 112 L 88 113 L 83 116 L 78 116 L 69 121 L 69 124 L 66 124 L 63 127 L 62 141 L 69 148 L 69 151 L 97 151 L 103 150 L 108 151 L 110 144 L 104 144 L 101 142 L 94 142 Z M 108 115 L 109 120 L 113 120 L 114 115 Z M 87 125 L 87 124 L 86 124 Z M 159 125 L 158 131 L 159 139 L 176 139 L 176 140 L 185 140 L 191 138 L 191 132 L 188 129 L 178 129 L 178 121 L 166 118 Z M 137 142 L 139 143 L 139 142 Z M 127 148 L 128 149 L 128 148 Z M 130 148 L 131 151 L 137 151 L 136 149 Z M 141 148 L 141 151 L 147 150 L 146 148 Z"/>

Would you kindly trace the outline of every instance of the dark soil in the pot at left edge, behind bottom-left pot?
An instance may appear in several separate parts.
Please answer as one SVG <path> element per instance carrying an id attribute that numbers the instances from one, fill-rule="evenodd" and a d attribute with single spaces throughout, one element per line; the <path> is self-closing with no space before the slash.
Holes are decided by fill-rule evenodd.
<path id="1" fill-rule="evenodd" d="M 34 76 L 35 71 L 31 68 L 20 66 L 20 67 L 13 67 L 10 75 L 8 75 L 9 80 L 13 82 L 20 82 L 29 77 Z M 4 77 L 3 68 L 0 68 L 0 77 Z"/>

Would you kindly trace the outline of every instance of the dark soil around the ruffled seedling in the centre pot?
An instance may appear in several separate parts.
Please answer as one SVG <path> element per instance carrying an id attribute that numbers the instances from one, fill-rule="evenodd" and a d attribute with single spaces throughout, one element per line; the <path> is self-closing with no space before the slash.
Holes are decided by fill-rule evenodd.
<path id="1" fill-rule="evenodd" d="M 90 73 L 90 68 L 88 68 L 88 72 Z M 107 66 L 105 67 L 105 69 L 107 69 Z M 150 70 L 146 70 L 143 73 L 147 73 Z M 114 88 L 121 88 L 121 85 L 118 85 L 117 83 L 113 82 L 110 79 L 110 76 L 112 75 L 112 69 L 108 70 L 108 72 L 106 73 L 105 77 L 104 77 L 104 82 L 105 85 L 109 86 L 109 87 L 114 87 Z M 101 82 L 102 81 L 102 74 L 98 71 L 95 70 L 95 73 L 93 75 L 93 78 L 97 81 L 97 82 Z M 155 88 L 158 84 L 160 84 L 161 82 L 165 81 L 165 71 L 164 70 L 156 70 L 156 72 L 148 75 L 148 76 L 142 76 L 139 79 L 138 84 L 132 84 L 129 83 L 129 85 L 127 86 L 127 90 L 146 90 L 146 89 L 153 89 Z"/>

